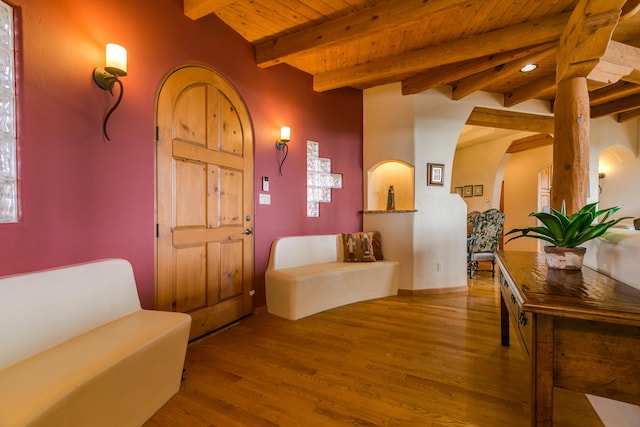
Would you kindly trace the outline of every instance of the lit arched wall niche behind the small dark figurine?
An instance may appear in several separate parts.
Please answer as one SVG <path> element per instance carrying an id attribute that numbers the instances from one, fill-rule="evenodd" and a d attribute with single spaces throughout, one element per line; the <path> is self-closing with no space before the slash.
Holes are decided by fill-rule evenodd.
<path id="1" fill-rule="evenodd" d="M 367 171 L 367 209 L 386 210 L 389 188 L 393 186 L 395 210 L 413 210 L 414 166 L 402 160 L 385 160 Z"/>

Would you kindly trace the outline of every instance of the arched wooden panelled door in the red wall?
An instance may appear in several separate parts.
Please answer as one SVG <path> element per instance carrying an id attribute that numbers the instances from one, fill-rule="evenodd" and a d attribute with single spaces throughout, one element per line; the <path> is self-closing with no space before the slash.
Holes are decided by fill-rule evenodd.
<path id="1" fill-rule="evenodd" d="M 253 136 L 234 87 L 186 66 L 157 100 L 156 307 L 193 318 L 190 338 L 251 313 Z"/>

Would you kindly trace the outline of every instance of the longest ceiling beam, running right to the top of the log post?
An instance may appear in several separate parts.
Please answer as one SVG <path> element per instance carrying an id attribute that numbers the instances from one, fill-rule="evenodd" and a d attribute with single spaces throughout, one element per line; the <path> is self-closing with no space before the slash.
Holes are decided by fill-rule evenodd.
<path id="1" fill-rule="evenodd" d="M 570 13 L 566 12 L 547 16 L 438 46 L 317 74 L 313 78 L 313 87 L 317 91 L 325 91 L 344 86 L 356 86 L 371 80 L 420 72 L 445 64 L 555 41 L 562 34 L 569 15 Z"/>

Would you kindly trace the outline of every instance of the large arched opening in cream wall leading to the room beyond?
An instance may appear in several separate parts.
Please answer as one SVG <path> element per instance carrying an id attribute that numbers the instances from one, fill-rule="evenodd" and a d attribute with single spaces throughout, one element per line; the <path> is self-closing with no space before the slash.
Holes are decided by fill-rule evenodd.
<path id="1" fill-rule="evenodd" d="M 507 231 L 535 225 L 528 215 L 537 210 L 538 170 L 552 162 L 553 126 L 552 116 L 476 107 L 458 138 L 451 177 L 451 191 L 461 194 L 467 212 L 500 209 Z M 535 251 L 526 240 L 532 239 L 507 249 Z"/>

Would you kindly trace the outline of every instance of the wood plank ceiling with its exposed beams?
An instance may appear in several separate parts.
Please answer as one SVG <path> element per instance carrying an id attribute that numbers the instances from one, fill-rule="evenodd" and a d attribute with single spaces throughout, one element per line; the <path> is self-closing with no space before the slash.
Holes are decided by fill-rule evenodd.
<path id="1" fill-rule="evenodd" d="M 576 10 L 587 11 L 575 31 L 580 60 L 599 63 L 588 75 L 592 118 L 640 117 L 640 0 L 184 0 L 190 18 L 215 13 L 251 42 L 260 67 L 287 63 L 317 91 L 449 85 L 455 100 L 488 91 L 507 107 L 540 99 L 550 111 Z M 521 72 L 529 63 L 538 68 Z"/>

